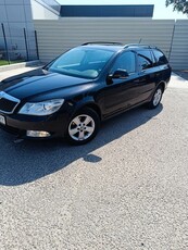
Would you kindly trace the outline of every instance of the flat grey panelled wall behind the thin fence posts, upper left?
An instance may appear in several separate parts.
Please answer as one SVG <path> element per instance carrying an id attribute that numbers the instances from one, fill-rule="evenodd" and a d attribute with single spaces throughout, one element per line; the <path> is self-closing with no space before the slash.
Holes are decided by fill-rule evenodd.
<path id="1" fill-rule="evenodd" d="M 4 26 L 10 58 L 26 58 L 24 28 L 27 30 L 27 46 L 30 51 L 35 50 L 30 0 L 0 0 L 0 23 Z M 5 48 L 1 26 L 0 48 Z"/>

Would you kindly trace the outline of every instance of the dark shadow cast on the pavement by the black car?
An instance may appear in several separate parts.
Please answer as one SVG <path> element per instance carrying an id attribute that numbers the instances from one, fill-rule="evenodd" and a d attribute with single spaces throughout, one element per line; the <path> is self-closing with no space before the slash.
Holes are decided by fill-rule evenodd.
<path id="1" fill-rule="evenodd" d="M 103 123 L 97 137 L 89 143 L 72 147 L 62 139 L 24 140 L 14 142 L 14 137 L 0 132 L 0 185 L 16 186 L 34 182 L 62 170 L 77 159 L 99 162 L 102 159 L 92 152 L 156 116 L 163 107 L 146 110 L 143 107 L 128 111 Z"/>

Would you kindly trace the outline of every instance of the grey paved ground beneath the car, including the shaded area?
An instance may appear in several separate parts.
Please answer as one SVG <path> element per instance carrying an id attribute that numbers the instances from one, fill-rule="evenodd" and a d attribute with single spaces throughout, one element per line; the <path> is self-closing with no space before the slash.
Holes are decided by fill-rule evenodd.
<path id="1" fill-rule="evenodd" d="M 0 132 L 1 250 L 188 249 L 188 82 L 87 146 Z"/>

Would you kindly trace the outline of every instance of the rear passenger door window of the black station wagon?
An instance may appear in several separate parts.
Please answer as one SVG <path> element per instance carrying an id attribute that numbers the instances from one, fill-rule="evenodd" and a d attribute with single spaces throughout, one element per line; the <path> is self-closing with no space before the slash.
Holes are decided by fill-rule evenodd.
<path id="1" fill-rule="evenodd" d="M 150 50 L 141 50 L 138 52 L 138 65 L 140 71 L 152 67 L 154 59 Z"/>

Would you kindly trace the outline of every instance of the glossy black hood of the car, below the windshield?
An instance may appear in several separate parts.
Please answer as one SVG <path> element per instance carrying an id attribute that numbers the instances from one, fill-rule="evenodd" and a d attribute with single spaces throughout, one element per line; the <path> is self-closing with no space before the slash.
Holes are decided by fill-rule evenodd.
<path id="1" fill-rule="evenodd" d="M 51 73 L 42 68 L 29 73 L 7 78 L 0 83 L 0 91 L 4 91 L 20 100 L 38 99 L 41 96 L 64 98 L 62 95 L 71 95 L 75 88 L 87 89 L 90 79 Z"/>

